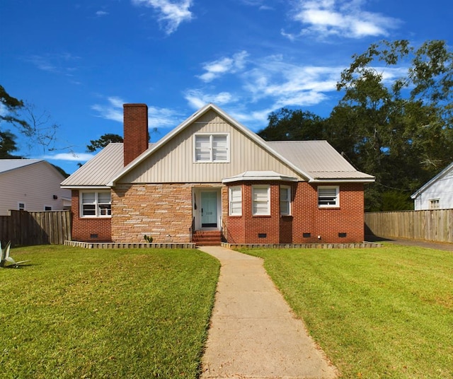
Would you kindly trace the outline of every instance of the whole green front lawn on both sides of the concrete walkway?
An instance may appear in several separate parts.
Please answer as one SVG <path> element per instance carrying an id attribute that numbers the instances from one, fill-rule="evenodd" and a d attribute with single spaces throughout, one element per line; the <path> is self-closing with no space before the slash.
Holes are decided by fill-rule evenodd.
<path id="1" fill-rule="evenodd" d="M 243 250 L 343 378 L 453 378 L 453 254 L 386 245 Z M 197 378 L 219 262 L 197 250 L 11 250 L 2 378 Z M 259 359 L 260 357 L 257 357 Z"/>

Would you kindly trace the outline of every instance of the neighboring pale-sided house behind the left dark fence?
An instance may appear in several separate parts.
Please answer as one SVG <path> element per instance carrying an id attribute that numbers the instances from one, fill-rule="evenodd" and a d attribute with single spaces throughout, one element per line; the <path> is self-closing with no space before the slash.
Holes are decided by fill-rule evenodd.
<path id="1" fill-rule="evenodd" d="M 9 210 L 61 211 L 71 206 L 64 175 L 42 159 L 0 159 L 0 216 Z"/>

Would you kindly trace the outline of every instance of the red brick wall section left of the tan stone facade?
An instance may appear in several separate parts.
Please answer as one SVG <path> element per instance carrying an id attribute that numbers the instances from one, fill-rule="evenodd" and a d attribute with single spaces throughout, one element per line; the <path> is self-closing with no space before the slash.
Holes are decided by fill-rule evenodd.
<path id="1" fill-rule="evenodd" d="M 72 190 L 71 212 L 72 226 L 71 238 L 74 241 L 111 241 L 111 218 L 80 217 L 79 190 Z"/>

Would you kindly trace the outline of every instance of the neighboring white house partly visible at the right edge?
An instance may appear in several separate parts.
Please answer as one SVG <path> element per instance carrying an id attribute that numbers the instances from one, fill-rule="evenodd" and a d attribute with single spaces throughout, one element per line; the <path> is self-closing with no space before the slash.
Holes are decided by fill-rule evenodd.
<path id="1" fill-rule="evenodd" d="M 453 163 L 411 195 L 415 211 L 453 208 Z"/>

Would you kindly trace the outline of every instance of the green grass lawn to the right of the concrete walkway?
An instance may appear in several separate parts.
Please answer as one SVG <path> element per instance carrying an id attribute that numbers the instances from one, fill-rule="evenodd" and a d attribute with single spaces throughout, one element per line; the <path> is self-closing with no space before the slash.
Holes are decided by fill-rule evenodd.
<path id="1" fill-rule="evenodd" d="M 343 378 L 453 378 L 452 252 L 241 251 L 264 258 Z"/>

